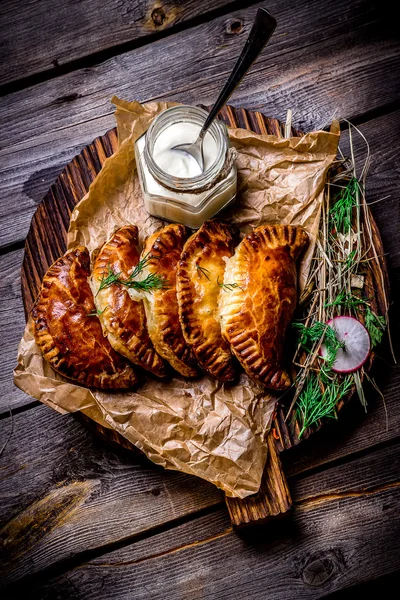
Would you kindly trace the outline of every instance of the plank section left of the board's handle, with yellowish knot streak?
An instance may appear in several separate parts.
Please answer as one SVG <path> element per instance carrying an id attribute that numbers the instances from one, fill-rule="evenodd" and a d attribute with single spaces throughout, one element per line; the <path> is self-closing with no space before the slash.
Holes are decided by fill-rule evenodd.
<path id="1" fill-rule="evenodd" d="M 3 419 L 0 447 L 9 430 Z M 45 406 L 14 416 L 1 479 L 1 571 L 10 578 L 16 562 L 32 573 L 223 501 L 215 486 L 134 453 L 115 454 L 76 419 Z"/>

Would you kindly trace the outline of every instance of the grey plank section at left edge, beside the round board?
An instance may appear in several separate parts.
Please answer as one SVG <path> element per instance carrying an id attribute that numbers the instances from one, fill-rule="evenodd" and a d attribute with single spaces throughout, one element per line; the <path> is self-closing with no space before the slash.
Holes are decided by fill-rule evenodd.
<path id="1" fill-rule="evenodd" d="M 13 384 L 17 348 L 25 327 L 20 283 L 22 258 L 23 250 L 0 256 L 0 414 L 33 402 Z"/>

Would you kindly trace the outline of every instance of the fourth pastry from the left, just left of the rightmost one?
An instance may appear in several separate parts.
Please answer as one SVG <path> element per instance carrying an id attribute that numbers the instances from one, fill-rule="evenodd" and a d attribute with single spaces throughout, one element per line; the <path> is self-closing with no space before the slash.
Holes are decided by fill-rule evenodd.
<path id="1" fill-rule="evenodd" d="M 177 271 L 183 335 L 201 368 L 219 381 L 235 378 L 233 356 L 221 334 L 218 296 L 234 250 L 229 225 L 206 221 L 183 247 Z"/>

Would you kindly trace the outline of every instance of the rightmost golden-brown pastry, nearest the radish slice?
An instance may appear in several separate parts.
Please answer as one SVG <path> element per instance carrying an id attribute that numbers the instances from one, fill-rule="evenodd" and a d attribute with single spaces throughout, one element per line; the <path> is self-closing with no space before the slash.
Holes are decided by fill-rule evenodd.
<path id="1" fill-rule="evenodd" d="M 301 227 L 262 225 L 236 248 L 225 270 L 219 310 L 222 335 L 249 377 L 273 390 L 290 379 L 283 345 L 297 301 L 296 260 L 308 245 Z"/>

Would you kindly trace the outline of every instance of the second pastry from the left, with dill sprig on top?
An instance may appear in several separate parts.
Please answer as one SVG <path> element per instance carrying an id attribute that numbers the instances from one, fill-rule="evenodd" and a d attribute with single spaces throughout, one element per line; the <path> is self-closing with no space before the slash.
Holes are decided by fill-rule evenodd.
<path id="1" fill-rule="evenodd" d="M 127 279 L 140 258 L 138 228 L 118 229 L 104 244 L 93 265 L 91 287 L 103 333 L 111 346 L 135 365 L 158 377 L 166 375 L 165 364 L 157 354 L 146 328 L 143 301 L 129 295 L 123 285 L 100 289 L 109 269 Z"/>

